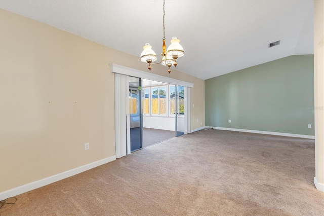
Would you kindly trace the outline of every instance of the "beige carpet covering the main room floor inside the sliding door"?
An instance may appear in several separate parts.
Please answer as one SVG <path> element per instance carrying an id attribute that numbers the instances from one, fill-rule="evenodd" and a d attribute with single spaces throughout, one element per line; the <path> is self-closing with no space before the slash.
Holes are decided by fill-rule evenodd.
<path id="1" fill-rule="evenodd" d="M 323 215 L 314 140 L 197 131 L 17 196 L 1 215 Z"/>

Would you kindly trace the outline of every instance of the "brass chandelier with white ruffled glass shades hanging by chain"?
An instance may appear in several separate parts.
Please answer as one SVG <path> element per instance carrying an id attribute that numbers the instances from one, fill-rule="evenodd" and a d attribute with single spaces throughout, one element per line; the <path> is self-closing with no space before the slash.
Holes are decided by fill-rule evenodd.
<path id="1" fill-rule="evenodd" d="M 165 38 L 165 0 L 163 0 L 163 45 L 162 45 L 162 53 L 161 60 L 158 63 L 152 63 L 156 61 L 157 57 L 155 52 L 152 50 L 152 46 L 150 44 L 145 44 L 143 47 L 143 52 L 141 54 L 141 61 L 148 63 L 148 69 L 151 70 L 151 64 L 163 64 L 167 66 L 168 72 L 170 74 L 170 67 L 172 64 L 177 66 L 177 59 L 184 56 L 184 51 L 182 46 L 180 45 L 180 40 L 177 37 L 173 37 L 171 40 L 171 45 L 166 48 L 166 38 Z"/>

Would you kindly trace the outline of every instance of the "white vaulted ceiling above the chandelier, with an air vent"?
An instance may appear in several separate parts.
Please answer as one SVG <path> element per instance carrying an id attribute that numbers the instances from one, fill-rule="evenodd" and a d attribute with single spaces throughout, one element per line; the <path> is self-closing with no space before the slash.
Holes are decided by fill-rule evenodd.
<path id="1" fill-rule="evenodd" d="M 1 0 L 0 7 L 135 56 L 145 43 L 161 52 L 162 0 Z M 166 0 L 165 7 L 167 46 L 176 36 L 185 50 L 177 69 L 201 79 L 314 52 L 311 0 Z"/>

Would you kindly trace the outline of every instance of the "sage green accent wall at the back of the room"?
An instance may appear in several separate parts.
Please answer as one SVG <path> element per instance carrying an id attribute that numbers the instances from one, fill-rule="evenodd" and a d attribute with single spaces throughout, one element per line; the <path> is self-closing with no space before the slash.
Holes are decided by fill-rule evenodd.
<path id="1" fill-rule="evenodd" d="M 205 112 L 207 126 L 314 135 L 314 55 L 206 80 Z"/>

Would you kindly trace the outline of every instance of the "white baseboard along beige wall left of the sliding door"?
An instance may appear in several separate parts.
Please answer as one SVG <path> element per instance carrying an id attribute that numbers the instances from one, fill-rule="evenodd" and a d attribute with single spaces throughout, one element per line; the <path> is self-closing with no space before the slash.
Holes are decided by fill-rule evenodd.
<path id="1" fill-rule="evenodd" d="M 36 188 L 41 188 L 43 186 L 52 184 L 52 183 L 60 181 L 60 180 L 62 180 L 64 178 L 70 177 L 72 175 L 76 175 L 78 173 L 87 171 L 87 170 L 95 168 L 97 166 L 101 166 L 103 164 L 109 163 L 109 162 L 114 161 L 114 160 L 116 160 L 115 155 L 111 156 L 109 158 L 105 158 L 105 159 L 102 159 L 102 160 L 99 160 L 99 161 L 95 161 L 93 163 L 89 163 L 89 164 L 86 164 L 86 165 L 83 165 L 83 166 L 76 167 L 74 169 L 67 170 L 65 172 L 61 172 L 61 173 L 56 174 L 56 175 L 52 175 L 52 176 L 37 180 L 37 181 L 32 182 L 32 183 L 28 183 L 26 185 L 19 186 L 17 188 L 13 188 L 13 189 L 10 189 L 10 190 L 7 190 L 7 191 L 3 191 L 3 192 L 0 193 L 0 200 L 7 199 L 9 197 L 14 197 L 14 196 L 17 196 L 19 194 L 23 194 L 25 192 L 34 190 Z"/>

